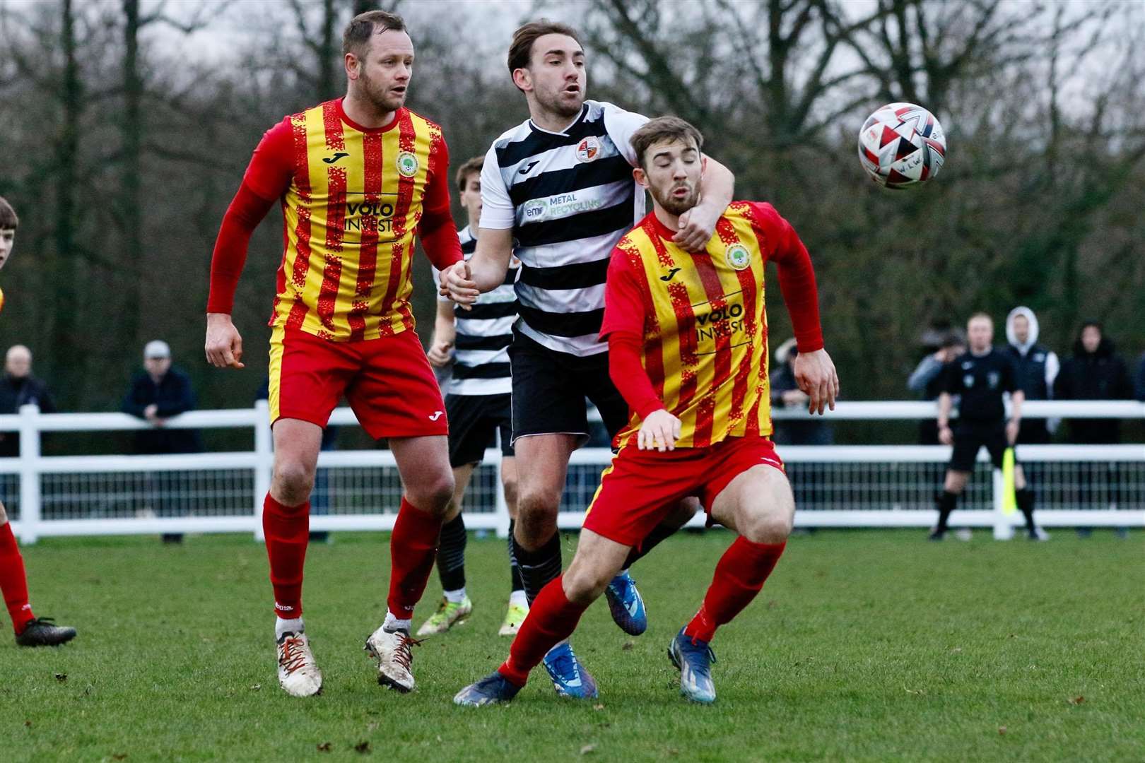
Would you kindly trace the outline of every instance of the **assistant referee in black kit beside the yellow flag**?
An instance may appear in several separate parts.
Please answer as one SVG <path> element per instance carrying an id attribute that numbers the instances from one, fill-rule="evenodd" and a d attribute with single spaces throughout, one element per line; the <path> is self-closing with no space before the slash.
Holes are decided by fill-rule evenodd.
<path id="1" fill-rule="evenodd" d="M 974 469 L 978 451 L 985 446 L 995 468 L 1002 468 L 1006 447 L 1018 440 L 1021 427 L 1021 404 L 1025 394 L 1018 387 L 1013 361 L 992 347 L 994 321 L 985 312 L 971 316 L 966 324 L 970 351 L 948 363 L 942 371 L 942 391 L 939 395 L 938 436 L 943 445 L 953 445 L 950 466 L 946 471 L 942 493 L 938 496 L 938 525 L 931 540 L 942 540 L 950 512 L 966 487 Z M 1011 415 L 1006 421 L 1003 395 L 1010 394 Z M 954 396 L 960 396 L 958 421 L 950 428 L 950 408 Z M 1026 475 L 1014 466 L 1014 496 L 1026 517 L 1030 540 L 1049 537 L 1034 524 L 1034 493 L 1026 485 Z"/>

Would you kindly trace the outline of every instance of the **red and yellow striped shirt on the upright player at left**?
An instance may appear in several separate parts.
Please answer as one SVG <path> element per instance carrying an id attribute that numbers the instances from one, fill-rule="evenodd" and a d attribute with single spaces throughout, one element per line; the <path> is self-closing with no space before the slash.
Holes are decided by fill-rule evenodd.
<path id="1" fill-rule="evenodd" d="M 448 162 L 441 128 L 404 108 L 371 129 L 354 124 L 341 100 L 329 101 L 269 130 L 244 182 L 282 199 L 285 251 L 270 325 L 334 341 L 412 329 L 419 224 L 433 217 L 428 230 L 448 223 L 457 238 Z"/>

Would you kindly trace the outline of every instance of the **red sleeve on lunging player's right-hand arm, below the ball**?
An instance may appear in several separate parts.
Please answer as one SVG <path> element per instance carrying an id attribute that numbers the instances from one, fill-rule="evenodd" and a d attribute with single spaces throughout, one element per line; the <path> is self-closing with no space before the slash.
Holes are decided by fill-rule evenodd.
<path id="1" fill-rule="evenodd" d="M 787 302 L 795 339 L 800 352 L 823 349 L 823 329 L 819 323 L 819 292 L 815 269 L 807 247 L 799 240 L 787 220 L 769 204 L 751 202 L 756 218 L 764 231 L 758 236 L 760 249 L 771 251 L 769 259 L 780 272 L 780 291 Z M 768 247 L 767 243 L 774 243 Z"/>

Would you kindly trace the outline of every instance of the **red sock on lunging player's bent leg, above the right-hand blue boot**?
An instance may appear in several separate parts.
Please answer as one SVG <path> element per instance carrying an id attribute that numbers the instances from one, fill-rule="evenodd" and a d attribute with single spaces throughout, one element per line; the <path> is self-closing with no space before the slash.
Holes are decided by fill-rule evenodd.
<path id="1" fill-rule="evenodd" d="M 684 635 L 704 642 L 711 641 L 716 628 L 731 622 L 756 597 L 784 548 L 787 541 L 752 543 L 745 538 L 736 538 L 716 565 L 716 574 L 704 595 L 704 603 L 684 629 Z"/>

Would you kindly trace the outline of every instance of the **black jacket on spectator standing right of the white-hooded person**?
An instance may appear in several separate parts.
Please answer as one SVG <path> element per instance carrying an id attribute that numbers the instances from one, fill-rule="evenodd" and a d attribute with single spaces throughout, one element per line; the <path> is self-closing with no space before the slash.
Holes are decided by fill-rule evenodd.
<path id="1" fill-rule="evenodd" d="M 1105 336 L 1096 352 L 1087 352 L 1079 337 L 1074 342 L 1073 357 L 1061 364 L 1061 373 L 1053 386 L 1053 397 L 1061 400 L 1129 400 L 1132 394 L 1126 361 Z M 1071 443 L 1100 444 L 1121 439 L 1118 419 L 1069 419 L 1067 426 Z"/>

